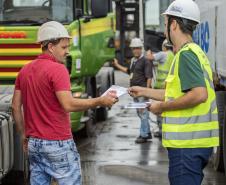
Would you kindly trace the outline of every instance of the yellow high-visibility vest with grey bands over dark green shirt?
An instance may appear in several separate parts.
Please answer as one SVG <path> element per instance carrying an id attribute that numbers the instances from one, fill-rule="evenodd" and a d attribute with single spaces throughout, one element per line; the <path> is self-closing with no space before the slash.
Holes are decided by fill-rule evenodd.
<path id="1" fill-rule="evenodd" d="M 205 78 L 208 99 L 192 108 L 162 113 L 163 146 L 172 148 L 219 146 L 218 111 L 212 70 L 208 58 L 197 44 L 189 43 L 175 55 L 166 78 L 165 101 L 172 101 L 185 94 L 181 92 L 178 70 L 180 54 L 186 50 L 194 52 L 199 59 Z"/>

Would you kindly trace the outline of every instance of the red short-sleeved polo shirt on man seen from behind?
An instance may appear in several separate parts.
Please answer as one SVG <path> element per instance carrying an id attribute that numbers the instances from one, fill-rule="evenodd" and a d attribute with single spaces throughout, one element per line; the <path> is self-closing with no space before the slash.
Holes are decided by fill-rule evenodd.
<path id="1" fill-rule="evenodd" d="M 61 107 L 57 91 L 70 91 L 66 67 L 50 55 L 42 54 L 24 66 L 16 90 L 22 93 L 25 134 L 47 140 L 72 138 L 70 117 Z"/>

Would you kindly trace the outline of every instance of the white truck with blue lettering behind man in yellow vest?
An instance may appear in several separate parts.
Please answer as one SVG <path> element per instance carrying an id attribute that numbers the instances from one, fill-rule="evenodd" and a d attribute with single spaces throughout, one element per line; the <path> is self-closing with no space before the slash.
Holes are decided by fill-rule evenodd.
<path id="1" fill-rule="evenodd" d="M 214 149 L 213 164 L 226 174 L 226 1 L 195 0 L 201 11 L 201 23 L 193 39 L 206 52 L 212 66 L 216 90 L 220 146 Z"/>

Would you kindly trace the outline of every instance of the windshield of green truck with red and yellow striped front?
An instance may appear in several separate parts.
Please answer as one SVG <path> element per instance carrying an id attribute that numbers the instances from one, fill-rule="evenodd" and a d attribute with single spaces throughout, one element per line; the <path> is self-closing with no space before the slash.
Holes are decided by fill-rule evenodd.
<path id="1" fill-rule="evenodd" d="M 73 21 L 73 0 L 0 0 L 0 24 L 40 25 L 55 20 Z"/>

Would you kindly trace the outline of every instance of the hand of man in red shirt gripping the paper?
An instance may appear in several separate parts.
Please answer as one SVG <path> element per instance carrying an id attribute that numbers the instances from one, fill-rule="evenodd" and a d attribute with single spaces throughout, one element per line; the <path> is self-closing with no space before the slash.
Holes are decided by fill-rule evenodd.
<path id="1" fill-rule="evenodd" d="M 111 107 L 118 102 L 116 91 L 109 91 L 107 95 L 100 97 L 100 104 L 103 107 Z"/>

